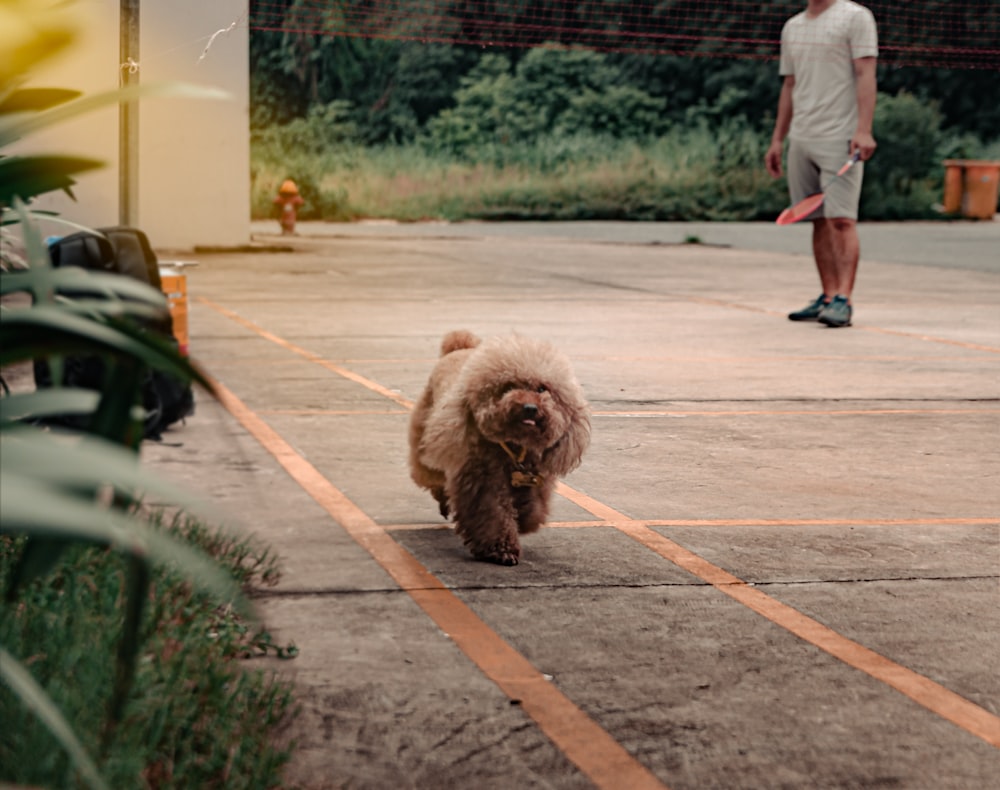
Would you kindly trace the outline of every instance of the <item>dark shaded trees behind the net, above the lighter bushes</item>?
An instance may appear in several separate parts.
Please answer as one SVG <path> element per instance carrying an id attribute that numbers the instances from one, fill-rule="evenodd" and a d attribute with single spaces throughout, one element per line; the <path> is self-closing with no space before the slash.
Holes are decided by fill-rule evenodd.
<path id="1" fill-rule="evenodd" d="M 259 129 L 305 117 L 316 105 L 339 101 L 350 107 L 348 117 L 355 124 L 359 140 L 379 143 L 414 139 L 432 118 L 458 103 L 458 92 L 467 88 L 470 79 L 479 81 L 484 67 L 496 73 L 497 55 L 502 55 L 508 63 L 506 72 L 512 78 L 519 73 L 530 77 L 521 71 L 521 61 L 534 58 L 537 45 L 562 44 L 587 49 L 572 36 L 574 30 L 584 28 L 613 27 L 619 37 L 643 25 L 649 26 L 646 32 L 651 32 L 654 18 L 647 19 L 644 13 L 655 13 L 660 25 L 664 18 L 669 18 L 672 29 L 684 34 L 679 38 L 686 41 L 686 54 L 595 53 L 602 64 L 600 68 L 607 70 L 597 78 L 598 84 L 651 97 L 658 103 L 664 123 L 682 123 L 691 111 L 697 111 L 728 118 L 738 115 L 751 124 L 768 125 L 778 91 L 776 47 L 757 45 L 741 49 L 740 42 L 774 41 L 781 19 L 801 10 L 803 3 L 784 0 L 755 4 L 753 13 L 746 12 L 745 3 L 709 4 L 708 8 L 704 3 L 679 0 L 648 4 L 567 4 L 553 0 L 468 6 L 434 4 L 434 18 L 441 20 L 438 32 L 443 34 L 442 38 L 469 41 L 479 36 L 482 45 L 473 47 L 405 38 L 367 38 L 364 30 L 350 30 L 350 25 L 360 23 L 354 17 L 344 18 L 348 7 L 371 6 L 366 13 L 373 16 L 381 8 L 378 3 L 331 3 L 326 16 L 318 16 L 312 8 L 315 4 L 306 4 L 309 6 L 306 9 L 297 0 L 258 5 L 271 9 L 283 6 L 280 21 L 287 30 L 273 20 L 266 30 L 251 25 L 253 127 Z M 930 62 L 961 65 L 960 56 L 965 51 L 962 43 L 970 40 L 973 31 L 978 31 L 976 35 L 981 37 L 984 25 L 987 31 L 994 30 L 1000 24 L 996 10 L 977 16 L 973 4 L 963 4 L 958 12 L 948 8 L 947 3 L 924 0 L 907 4 L 903 14 L 898 4 L 868 2 L 867 5 L 877 18 L 888 20 L 880 31 L 885 45 L 879 70 L 882 91 L 888 95 L 905 92 L 936 105 L 947 131 L 970 132 L 983 139 L 995 137 L 1000 130 L 1000 104 L 988 98 L 996 95 L 1000 79 L 995 63 L 992 70 L 982 68 L 984 64 L 968 54 L 965 65 L 980 68 L 916 68 L 900 66 L 900 62 L 906 53 L 939 51 L 937 61 L 932 55 Z M 303 25 L 297 14 L 310 24 Z M 595 18 L 583 18 L 581 14 L 592 14 Z M 711 14 L 711 18 L 706 20 L 706 14 Z M 497 46 L 498 42 L 490 40 L 484 27 L 487 19 L 495 24 L 506 23 L 508 29 L 522 34 L 530 31 L 545 38 L 535 45 L 500 41 L 503 46 Z M 496 28 L 490 30 L 495 32 Z M 369 33 L 381 35 L 378 31 Z M 958 53 L 958 60 L 952 62 L 945 57 L 946 52 Z M 570 63 L 561 67 L 560 72 L 563 77 L 571 72 L 567 89 L 573 84 L 587 86 L 588 77 L 577 72 L 588 69 L 594 60 L 566 57 Z M 490 60 L 492 65 L 484 63 Z M 551 64 L 551 60 L 547 61 L 547 65 Z"/>

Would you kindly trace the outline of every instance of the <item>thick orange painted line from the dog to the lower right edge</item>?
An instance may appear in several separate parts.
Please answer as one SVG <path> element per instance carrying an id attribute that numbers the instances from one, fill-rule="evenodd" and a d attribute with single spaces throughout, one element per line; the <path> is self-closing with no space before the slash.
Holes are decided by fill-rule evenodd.
<path id="1" fill-rule="evenodd" d="M 725 593 L 775 625 L 829 653 L 848 666 L 896 689 L 914 702 L 977 738 L 981 738 L 991 746 L 1000 748 L 1000 717 L 935 683 L 930 678 L 869 650 L 802 614 L 797 609 L 765 595 L 728 571 L 713 565 L 669 538 L 665 538 L 660 533 L 650 529 L 645 523 L 630 519 L 596 499 L 570 488 L 565 483 L 559 483 L 557 491 L 598 518 L 612 522 L 616 529 L 633 540 L 670 560 L 693 576 L 708 582 L 720 592 Z"/>

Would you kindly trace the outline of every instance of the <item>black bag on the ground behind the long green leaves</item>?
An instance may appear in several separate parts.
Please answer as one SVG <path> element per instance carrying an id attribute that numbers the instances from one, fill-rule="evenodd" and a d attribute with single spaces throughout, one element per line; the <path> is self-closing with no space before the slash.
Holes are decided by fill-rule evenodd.
<path id="1" fill-rule="evenodd" d="M 137 228 L 100 228 L 97 233 L 81 232 L 58 239 L 49 245 L 54 267 L 79 266 L 90 271 L 122 274 L 162 290 L 159 263 L 146 234 Z M 73 296 L 71 293 L 64 294 Z M 169 313 L 163 321 L 144 327 L 156 332 L 174 346 L 173 320 Z M 35 386 L 52 386 L 52 375 L 44 359 L 34 363 Z M 104 360 L 96 355 L 67 357 L 63 364 L 64 387 L 101 389 L 104 380 Z M 190 383 L 160 370 L 147 371 L 142 386 L 142 402 L 146 410 L 144 435 L 159 440 L 163 431 L 178 420 L 194 414 L 194 392 Z M 66 416 L 63 425 L 82 428 L 77 417 Z"/>

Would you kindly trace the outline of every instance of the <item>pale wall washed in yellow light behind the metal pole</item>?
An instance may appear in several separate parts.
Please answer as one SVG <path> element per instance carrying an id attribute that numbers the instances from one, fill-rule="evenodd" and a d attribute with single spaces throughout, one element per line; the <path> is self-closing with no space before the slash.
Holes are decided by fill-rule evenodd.
<path id="1" fill-rule="evenodd" d="M 32 80 L 86 94 L 118 85 L 119 0 L 76 0 L 80 37 Z M 202 58 L 212 34 L 218 35 Z M 225 90 L 226 100 L 144 98 L 139 107 L 138 221 L 157 248 L 244 244 L 250 237 L 249 36 L 247 0 L 141 0 L 139 81 Z M 91 227 L 118 224 L 118 109 L 32 135 L 32 152 L 107 162 L 79 177 L 77 201 L 48 195 L 37 208 Z M 60 234 L 58 228 L 47 233 Z"/>

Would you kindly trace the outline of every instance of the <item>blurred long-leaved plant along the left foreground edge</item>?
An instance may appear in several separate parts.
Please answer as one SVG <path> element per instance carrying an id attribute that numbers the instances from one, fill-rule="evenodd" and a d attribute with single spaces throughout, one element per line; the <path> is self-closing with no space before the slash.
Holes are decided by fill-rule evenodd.
<path id="1" fill-rule="evenodd" d="M 5 20 L 6 5 L 0 0 L 0 17 Z M 0 151 L 35 131 L 142 97 L 226 97 L 216 89 L 177 84 L 142 85 L 88 97 L 63 89 L 20 89 L 22 75 L 72 40 L 71 28 L 48 21 L 45 12 L 50 4 L 42 4 L 46 6 L 42 12 L 35 5 L 31 0 L 14 4 L 13 36 L 7 30 L 10 25 L 0 23 L 0 38 L 9 44 L 0 47 Z M 72 544 L 111 547 L 126 555 L 123 633 L 102 735 L 107 746 L 135 673 L 151 562 L 176 568 L 193 586 L 223 602 L 234 602 L 248 616 L 252 611 L 228 573 L 201 551 L 150 526 L 133 507 L 144 495 L 180 507 L 200 505 L 182 489 L 143 470 L 137 454 L 126 449 L 129 445 L 137 449 L 142 439 L 137 403 L 150 368 L 185 382 L 198 381 L 211 391 L 207 378 L 178 353 L 176 344 L 159 334 L 169 316 L 164 295 L 127 277 L 73 267 L 53 269 L 41 231 L 25 205 L 44 192 L 70 193 L 79 173 L 100 165 L 73 156 L 0 154 L 0 232 L 3 242 L 15 242 L 16 250 L 14 255 L 4 250 L 3 266 L 28 267 L 20 279 L 4 270 L 0 292 L 32 296 L 30 307 L 8 305 L 6 300 L 0 305 L 0 365 L 45 358 L 53 380 L 61 382 L 64 358 L 96 355 L 104 362 L 105 374 L 100 392 L 56 388 L 0 399 L 0 534 L 27 538 L 8 577 L 10 596 L 49 573 Z M 13 210 L 8 211 L 7 205 Z M 20 226 L 20 239 L 9 230 L 15 224 Z M 69 431 L 50 433 L 17 422 L 68 411 L 89 414 L 89 427 L 117 443 Z M 79 649 L 88 650 L 89 644 L 80 644 Z M 62 783 L 105 787 L 60 711 L 6 652 L 0 653 L 0 676 L 70 754 L 80 776 L 68 775 Z"/>

